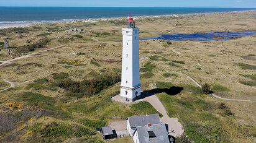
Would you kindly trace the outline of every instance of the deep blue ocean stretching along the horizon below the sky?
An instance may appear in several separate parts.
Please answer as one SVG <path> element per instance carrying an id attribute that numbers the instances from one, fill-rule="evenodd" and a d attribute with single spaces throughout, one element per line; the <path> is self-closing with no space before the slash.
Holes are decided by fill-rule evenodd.
<path id="1" fill-rule="evenodd" d="M 0 27 L 7 24 L 68 22 L 71 20 L 134 16 L 250 11 L 246 8 L 185 7 L 0 7 Z"/>

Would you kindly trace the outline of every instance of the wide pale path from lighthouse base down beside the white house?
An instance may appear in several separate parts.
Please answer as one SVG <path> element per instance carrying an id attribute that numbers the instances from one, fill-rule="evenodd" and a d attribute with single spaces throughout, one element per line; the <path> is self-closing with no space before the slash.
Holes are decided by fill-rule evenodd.
<path id="1" fill-rule="evenodd" d="M 178 121 L 178 118 L 170 118 L 165 111 L 165 107 L 163 106 L 162 102 L 156 97 L 156 95 L 152 95 L 149 97 L 144 98 L 145 101 L 149 102 L 153 108 L 155 108 L 159 113 L 163 115 L 160 118 L 162 123 L 168 124 L 169 131 L 174 130 L 175 132 L 169 132 L 171 136 L 180 136 L 184 129 L 182 129 L 181 123 Z"/>

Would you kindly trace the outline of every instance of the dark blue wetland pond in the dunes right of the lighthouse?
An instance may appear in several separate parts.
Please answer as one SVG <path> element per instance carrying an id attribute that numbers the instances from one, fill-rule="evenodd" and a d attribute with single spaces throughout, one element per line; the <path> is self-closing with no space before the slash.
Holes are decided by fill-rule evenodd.
<path id="1" fill-rule="evenodd" d="M 160 35 L 160 37 L 143 38 L 140 40 L 168 40 L 168 41 L 226 41 L 247 36 L 256 35 L 256 30 L 247 30 L 243 32 L 201 32 L 192 34 L 175 33 L 173 35 Z"/>

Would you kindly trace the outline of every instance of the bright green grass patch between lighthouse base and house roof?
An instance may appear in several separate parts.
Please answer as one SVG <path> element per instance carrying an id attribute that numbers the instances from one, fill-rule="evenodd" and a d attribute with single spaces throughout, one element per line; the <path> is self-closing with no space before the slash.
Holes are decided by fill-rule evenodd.
<path id="1" fill-rule="evenodd" d="M 160 115 L 160 113 L 158 113 L 158 111 L 155 110 L 155 108 L 153 108 L 153 106 L 149 102 L 132 104 L 130 105 L 130 111 L 132 111 L 134 115 L 146 115 L 146 113 Z"/>

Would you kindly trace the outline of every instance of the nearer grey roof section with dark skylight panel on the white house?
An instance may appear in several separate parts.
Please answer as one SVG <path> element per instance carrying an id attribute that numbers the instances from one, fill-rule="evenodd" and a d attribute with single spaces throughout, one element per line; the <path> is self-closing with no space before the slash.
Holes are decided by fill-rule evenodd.
<path id="1" fill-rule="evenodd" d="M 138 126 L 138 139 L 140 143 L 167 143 L 169 141 L 165 123 L 152 124 L 152 126 Z"/>

